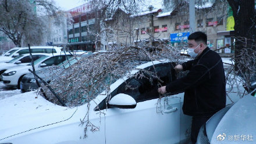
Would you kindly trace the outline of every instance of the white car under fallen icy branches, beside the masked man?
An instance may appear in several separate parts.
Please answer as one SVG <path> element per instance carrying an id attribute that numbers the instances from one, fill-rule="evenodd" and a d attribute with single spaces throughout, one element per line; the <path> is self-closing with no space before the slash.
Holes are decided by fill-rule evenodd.
<path id="1" fill-rule="evenodd" d="M 111 85 L 109 102 L 106 91 L 73 108 L 55 105 L 33 91 L 2 99 L 0 143 L 187 143 L 191 117 L 182 111 L 184 93 L 159 99 L 156 78 L 132 76 L 140 69 L 156 71 L 165 85 L 175 79 L 170 68 L 172 63 L 159 61 L 138 66 L 131 77 Z M 133 89 L 126 89 L 127 84 Z"/>

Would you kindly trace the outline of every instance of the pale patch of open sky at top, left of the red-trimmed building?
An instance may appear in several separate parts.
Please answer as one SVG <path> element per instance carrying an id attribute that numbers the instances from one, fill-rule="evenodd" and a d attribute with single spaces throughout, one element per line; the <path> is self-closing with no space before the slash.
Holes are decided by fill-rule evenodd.
<path id="1" fill-rule="evenodd" d="M 62 10 L 70 10 L 77 6 L 83 5 L 84 0 L 54 0 L 57 7 L 61 7 Z"/>

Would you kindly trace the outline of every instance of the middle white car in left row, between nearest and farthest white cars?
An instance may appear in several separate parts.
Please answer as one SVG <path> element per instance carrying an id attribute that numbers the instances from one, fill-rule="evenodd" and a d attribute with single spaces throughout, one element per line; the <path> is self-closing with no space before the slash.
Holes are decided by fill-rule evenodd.
<path id="1" fill-rule="evenodd" d="M 32 53 L 33 60 L 37 60 L 40 57 L 45 56 L 45 55 L 48 55 L 48 54 L 45 54 L 45 53 Z M 4 71 L 6 71 L 6 70 L 8 70 L 8 69 L 10 69 L 12 67 L 27 65 L 30 62 L 31 62 L 30 54 L 27 53 L 27 54 L 24 54 L 24 55 L 17 56 L 14 59 L 10 60 L 9 62 L 0 63 L 0 75 Z M 0 81 L 1 81 L 1 79 L 0 79 Z"/>

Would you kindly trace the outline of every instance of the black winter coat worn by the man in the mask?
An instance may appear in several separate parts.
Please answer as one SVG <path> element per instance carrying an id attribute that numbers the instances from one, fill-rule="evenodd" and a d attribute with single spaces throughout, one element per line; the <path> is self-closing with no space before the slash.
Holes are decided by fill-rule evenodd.
<path id="1" fill-rule="evenodd" d="M 208 47 L 200 56 L 182 64 L 189 73 L 166 85 L 170 93 L 184 93 L 183 113 L 211 116 L 226 106 L 226 80 L 218 53 Z"/>

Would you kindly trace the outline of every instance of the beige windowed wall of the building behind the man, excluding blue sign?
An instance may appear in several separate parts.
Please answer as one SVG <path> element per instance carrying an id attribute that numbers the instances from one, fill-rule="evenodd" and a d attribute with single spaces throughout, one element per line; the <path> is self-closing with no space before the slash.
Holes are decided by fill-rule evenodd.
<path id="1" fill-rule="evenodd" d="M 225 45 L 225 36 L 217 35 L 218 31 L 226 31 L 227 6 L 222 2 L 216 1 L 211 6 L 195 9 L 196 31 L 203 31 L 208 35 L 208 46 L 215 50 Z M 161 12 L 163 11 L 163 12 Z M 119 29 L 130 27 L 133 34 L 131 41 L 134 44 L 138 41 L 154 39 L 168 39 L 170 34 L 189 32 L 189 7 L 176 8 L 169 12 L 169 15 L 161 16 L 168 10 L 148 10 L 145 15 L 130 16 L 130 23 L 125 26 L 119 26 Z M 113 20 L 115 21 L 115 20 Z M 114 23 L 114 22 L 113 22 Z M 110 24 L 111 26 L 111 24 Z M 137 35 L 138 34 L 138 35 Z M 117 33 L 115 42 L 127 42 L 123 33 Z M 152 36 L 152 37 L 151 37 Z M 124 39 L 125 38 L 125 39 Z M 153 41 L 154 41 L 153 39 Z M 113 40 L 112 40 L 113 41 Z M 151 44 L 152 43 L 148 43 Z M 223 53 L 224 51 L 218 51 Z"/>

